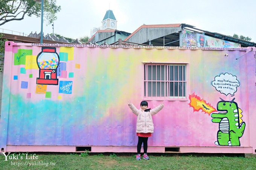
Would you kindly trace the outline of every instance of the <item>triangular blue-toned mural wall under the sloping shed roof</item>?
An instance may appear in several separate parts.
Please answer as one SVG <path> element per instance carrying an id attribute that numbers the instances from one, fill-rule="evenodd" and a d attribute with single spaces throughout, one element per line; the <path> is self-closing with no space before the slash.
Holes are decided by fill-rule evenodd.
<path id="1" fill-rule="evenodd" d="M 183 47 L 239 48 L 240 44 L 183 30 Z"/>

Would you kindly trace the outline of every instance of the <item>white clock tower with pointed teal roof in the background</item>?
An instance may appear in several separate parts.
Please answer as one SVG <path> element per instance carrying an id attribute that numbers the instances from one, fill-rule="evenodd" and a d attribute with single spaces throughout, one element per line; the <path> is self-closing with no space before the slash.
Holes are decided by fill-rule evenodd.
<path id="1" fill-rule="evenodd" d="M 108 10 L 105 14 L 105 17 L 102 20 L 102 30 L 114 29 L 116 30 L 116 17 L 113 14 L 112 10 Z"/>

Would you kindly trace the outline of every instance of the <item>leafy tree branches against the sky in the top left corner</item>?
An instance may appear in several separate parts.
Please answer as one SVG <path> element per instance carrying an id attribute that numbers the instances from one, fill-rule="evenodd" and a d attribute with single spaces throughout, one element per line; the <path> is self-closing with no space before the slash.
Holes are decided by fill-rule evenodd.
<path id="1" fill-rule="evenodd" d="M 44 0 L 44 21 L 47 25 L 57 19 L 56 13 L 61 6 L 56 5 L 56 0 Z M 41 3 L 34 0 L 0 0 L 0 26 L 10 21 L 23 20 L 25 15 L 41 17 Z"/>

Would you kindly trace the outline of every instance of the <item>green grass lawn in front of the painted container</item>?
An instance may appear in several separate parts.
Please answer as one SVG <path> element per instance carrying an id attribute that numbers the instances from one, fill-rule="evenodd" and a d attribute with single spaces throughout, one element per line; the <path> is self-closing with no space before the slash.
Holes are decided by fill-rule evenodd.
<path id="1" fill-rule="evenodd" d="M 8 154 L 8 153 L 6 153 Z M 13 156 L 14 154 L 14 156 Z M 27 155 L 26 155 L 27 154 Z M 35 155 L 34 155 L 35 154 Z M 134 153 L 10 153 L 0 155 L 0 169 L 193 169 L 255 170 L 256 158 L 220 154 L 148 154 L 150 160 L 136 161 Z M 34 157 L 33 157 L 34 156 Z M 37 157 L 36 157 L 37 156 Z M 22 157 L 22 159 L 21 159 Z M 30 158 L 30 159 L 28 159 Z"/>

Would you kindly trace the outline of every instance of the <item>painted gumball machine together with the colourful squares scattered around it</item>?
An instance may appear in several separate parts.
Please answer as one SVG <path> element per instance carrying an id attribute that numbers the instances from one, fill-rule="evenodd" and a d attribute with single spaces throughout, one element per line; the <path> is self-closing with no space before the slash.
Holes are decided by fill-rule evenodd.
<path id="1" fill-rule="evenodd" d="M 18 49 L 14 54 L 14 65 L 20 65 L 20 74 L 14 75 L 13 80 L 20 81 L 20 88 L 28 90 L 30 83 L 35 83 L 35 93 L 26 93 L 26 98 L 31 98 L 34 94 L 45 94 L 45 98 L 52 98 L 54 91 L 58 92 L 57 99 L 62 99 L 63 94 L 72 94 L 73 72 L 67 71 L 67 63 L 73 60 L 73 47 L 61 47 L 59 53 L 55 47 L 42 47 L 37 56 L 32 55 L 32 50 Z M 80 64 L 74 65 L 80 69 Z M 38 70 L 36 81 L 29 81 L 21 75 L 33 78 L 32 69 Z M 59 80 L 60 79 L 60 80 Z M 48 85 L 55 85 L 56 88 L 47 88 Z"/>

